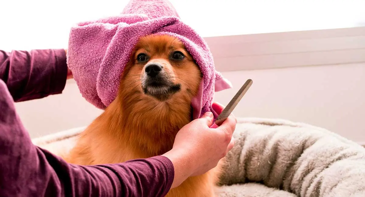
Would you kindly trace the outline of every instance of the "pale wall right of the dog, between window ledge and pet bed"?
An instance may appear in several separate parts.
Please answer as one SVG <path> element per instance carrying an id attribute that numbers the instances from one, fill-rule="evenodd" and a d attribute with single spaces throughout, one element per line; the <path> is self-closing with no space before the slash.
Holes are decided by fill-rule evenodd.
<path id="1" fill-rule="evenodd" d="M 233 113 L 284 118 L 365 142 L 365 63 L 227 72 L 234 88 L 218 92 L 226 105 L 247 78 L 253 84 Z M 230 96 L 228 96 L 230 95 Z"/>

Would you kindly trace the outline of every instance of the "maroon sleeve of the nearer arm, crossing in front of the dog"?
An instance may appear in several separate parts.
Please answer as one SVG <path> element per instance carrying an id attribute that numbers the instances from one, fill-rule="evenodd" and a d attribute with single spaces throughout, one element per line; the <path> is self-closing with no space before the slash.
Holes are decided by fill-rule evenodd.
<path id="1" fill-rule="evenodd" d="M 0 196 L 165 196 L 174 179 L 164 156 L 79 166 L 32 144 L 0 80 Z"/>

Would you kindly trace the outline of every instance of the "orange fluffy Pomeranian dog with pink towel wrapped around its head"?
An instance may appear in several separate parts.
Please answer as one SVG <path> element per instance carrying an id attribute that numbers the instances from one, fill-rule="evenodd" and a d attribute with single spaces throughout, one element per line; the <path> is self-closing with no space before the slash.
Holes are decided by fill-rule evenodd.
<path id="1" fill-rule="evenodd" d="M 192 120 L 191 99 L 202 74 L 184 44 L 168 35 L 139 40 L 116 99 L 81 133 L 68 162 L 120 163 L 168 152 L 176 133 Z M 216 168 L 189 177 L 168 197 L 212 197 Z"/>

